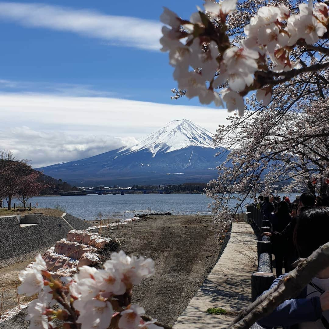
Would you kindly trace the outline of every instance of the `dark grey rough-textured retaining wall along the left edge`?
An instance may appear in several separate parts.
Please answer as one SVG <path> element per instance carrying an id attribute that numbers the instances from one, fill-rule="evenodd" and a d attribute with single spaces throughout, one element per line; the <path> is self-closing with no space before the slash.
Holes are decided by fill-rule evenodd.
<path id="1" fill-rule="evenodd" d="M 64 218 L 74 229 L 89 226 L 88 222 L 69 214 Z M 0 268 L 44 252 L 56 241 L 66 238 L 71 230 L 61 217 L 36 215 L 35 219 L 37 225 L 21 227 L 17 217 L 0 218 Z"/>

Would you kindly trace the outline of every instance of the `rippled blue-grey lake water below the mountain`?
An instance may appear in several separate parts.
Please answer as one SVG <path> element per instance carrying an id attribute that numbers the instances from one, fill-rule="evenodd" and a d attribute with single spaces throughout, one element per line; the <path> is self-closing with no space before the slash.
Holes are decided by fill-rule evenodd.
<path id="1" fill-rule="evenodd" d="M 291 201 L 294 196 L 290 196 Z M 253 199 L 246 200 L 247 203 Z M 19 204 L 17 200 L 13 203 Z M 93 220 L 98 217 L 99 212 L 103 216 L 116 217 L 117 213 L 120 216 L 131 216 L 135 214 L 147 212 L 171 212 L 174 215 L 210 215 L 211 209 L 208 204 L 212 202 L 204 194 L 125 194 L 125 195 L 97 195 L 90 194 L 87 196 L 43 196 L 33 197 L 29 202 L 32 207 L 37 208 L 54 208 L 55 204 L 61 204 L 65 207 L 66 212 L 77 216 L 81 219 Z M 237 201 L 232 199 L 231 205 Z M 245 207 L 242 207 L 245 211 Z M 240 212 L 242 212 L 240 209 Z"/>

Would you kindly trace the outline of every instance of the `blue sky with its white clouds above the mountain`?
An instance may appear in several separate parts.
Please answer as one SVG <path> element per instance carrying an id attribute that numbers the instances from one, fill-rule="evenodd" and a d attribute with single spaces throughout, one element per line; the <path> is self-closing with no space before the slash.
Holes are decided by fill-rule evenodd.
<path id="1" fill-rule="evenodd" d="M 202 1 L 0 1 L 2 147 L 28 152 L 38 166 L 132 143 L 183 117 L 215 132 L 226 111 L 172 101 L 173 69 L 158 50 L 162 7 L 188 18 L 196 5 Z M 68 139 L 79 142 L 68 146 Z"/>

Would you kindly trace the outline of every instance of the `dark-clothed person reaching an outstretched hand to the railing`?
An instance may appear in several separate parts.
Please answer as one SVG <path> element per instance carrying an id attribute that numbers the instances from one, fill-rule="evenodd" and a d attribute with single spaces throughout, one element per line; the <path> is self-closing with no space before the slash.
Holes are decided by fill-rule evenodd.
<path id="1" fill-rule="evenodd" d="M 284 253 L 286 258 L 285 272 L 289 272 L 292 270 L 291 264 L 297 259 L 296 250 L 293 244 L 293 232 L 296 226 L 297 218 L 304 210 L 314 206 L 314 194 L 312 194 L 311 192 L 303 193 L 299 198 L 299 207 L 297 209 L 297 213 L 294 213 L 290 223 L 285 227 L 285 229 L 281 232 L 272 231 L 263 233 L 263 235 L 271 237 L 271 242 L 273 245 L 284 246 Z"/>

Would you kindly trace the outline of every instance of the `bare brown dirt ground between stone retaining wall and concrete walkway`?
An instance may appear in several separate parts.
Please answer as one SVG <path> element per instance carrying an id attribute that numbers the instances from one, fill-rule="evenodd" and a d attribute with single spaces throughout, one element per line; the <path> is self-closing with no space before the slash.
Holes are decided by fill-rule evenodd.
<path id="1" fill-rule="evenodd" d="M 92 224 L 97 225 L 99 221 L 90 221 L 90 226 Z M 155 275 L 134 287 L 133 302 L 143 306 L 146 314 L 172 325 L 222 252 L 212 227 L 211 216 L 147 216 L 118 228 L 103 228 L 101 235 L 117 237 L 121 241 L 121 249 L 127 254 L 150 257 L 155 261 Z M 103 254 L 104 261 L 110 257 L 110 251 Z M 31 261 L 2 268 L 0 288 L 17 285 L 19 270 Z M 19 297 L 20 302 L 27 301 L 23 296 Z M 3 311 L 16 306 L 15 290 L 6 298 L 4 296 L 5 299 Z M 25 313 L 26 310 L 5 321 L 5 327 L 25 327 Z"/>

